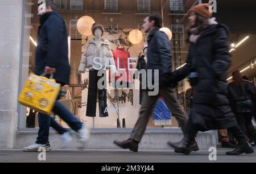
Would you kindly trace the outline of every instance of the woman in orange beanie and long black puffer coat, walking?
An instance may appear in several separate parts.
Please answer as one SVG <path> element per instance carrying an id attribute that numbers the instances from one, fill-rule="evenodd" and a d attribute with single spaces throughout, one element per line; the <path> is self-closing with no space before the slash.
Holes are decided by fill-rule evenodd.
<path id="1" fill-rule="evenodd" d="M 189 12 L 189 53 L 187 64 L 174 71 L 170 82 L 189 77 L 191 86 L 196 86 L 186 134 L 181 142 L 168 142 L 176 152 L 188 155 L 199 150 L 195 143 L 198 131 L 228 129 L 238 141 L 234 151 L 226 155 L 251 154 L 254 152 L 246 141 L 227 98 L 226 79 L 231 64 L 228 27 L 218 24 L 209 4 L 193 7 Z"/>

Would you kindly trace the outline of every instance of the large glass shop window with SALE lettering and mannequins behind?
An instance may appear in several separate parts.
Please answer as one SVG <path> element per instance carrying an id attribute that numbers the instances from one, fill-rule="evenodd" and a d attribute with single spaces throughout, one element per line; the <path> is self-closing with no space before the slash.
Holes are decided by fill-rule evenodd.
<path id="1" fill-rule="evenodd" d="M 26 0 L 24 20 L 24 54 L 23 81 L 28 73 L 35 71 L 35 49 L 37 47 L 40 19 L 38 6 L 44 1 Z M 139 79 L 134 79 L 134 69 L 140 67 L 147 49 L 147 35 L 142 29 L 143 19 L 148 12 L 163 16 L 163 27 L 168 28 L 173 52 L 172 68 L 176 69 L 185 63 L 187 44 L 185 27 L 189 7 L 196 1 L 169 0 L 55 0 L 56 11 L 64 19 L 68 30 L 69 63 L 71 65 L 70 84 L 61 89 L 65 94 L 60 102 L 65 105 L 81 122 L 90 123 L 95 128 L 133 127 L 138 119 L 141 102 L 141 91 L 135 88 Z M 177 14 L 180 13 L 180 14 Z M 104 26 L 104 33 L 98 37 L 92 33 L 94 23 Z M 171 31 L 172 32 L 171 32 Z M 100 30 L 101 31 L 101 30 Z M 99 44 L 100 43 L 100 44 Z M 116 76 L 106 70 L 102 75 L 107 81 L 107 88 L 99 89 L 97 70 L 88 67 L 90 57 L 112 58 Z M 27 63 L 25 63 L 27 61 Z M 81 62 L 86 64 L 82 67 Z M 102 68 L 103 69 L 103 68 Z M 119 82 L 122 86 L 114 85 Z M 130 87 L 130 88 L 127 88 Z M 186 92 L 189 87 L 183 81 L 177 86 L 181 105 L 187 108 Z M 185 96 L 185 97 L 184 97 Z M 20 127 L 38 127 L 36 111 L 25 109 L 27 114 L 20 114 Z M 26 115 L 26 117 L 24 116 Z M 61 126 L 67 125 L 52 113 Z M 26 126 L 24 125 L 26 123 Z M 148 127 L 178 127 L 175 115 L 172 117 L 161 96 L 156 103 Z"/>

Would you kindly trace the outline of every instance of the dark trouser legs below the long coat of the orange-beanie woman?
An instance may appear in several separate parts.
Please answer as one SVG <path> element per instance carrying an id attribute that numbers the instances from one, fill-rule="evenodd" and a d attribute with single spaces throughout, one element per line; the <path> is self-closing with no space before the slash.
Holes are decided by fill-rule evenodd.
<path id="1" fill-rule="evenodd" d="M 228 131 L 232 132 L 234 137 L 237 139 L 238 144 L 246 144 L 245 134 L 241 130 L 241 128 L 237 125 L 234 127 L 228 128 Z M 197 126 L 192 123 L 192 118 L 189 117 L 188 125 L 187 125 L 187 135 L 189 139 L 194 140 L 196 138 L 196 134 L 198 132 Z"/>

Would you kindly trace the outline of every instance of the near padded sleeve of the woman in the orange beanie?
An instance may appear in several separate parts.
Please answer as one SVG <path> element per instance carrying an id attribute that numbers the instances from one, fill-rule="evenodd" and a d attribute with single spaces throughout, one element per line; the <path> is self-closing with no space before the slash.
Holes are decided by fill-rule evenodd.
<path id="1" fill-rule="evenodd" d="M 219 28 L 216 37 L 214 37 L 214 61 L 212 69 L 214 76 L 219 78 L 222 73 L 226 72 L 231 65 L 230 44 L 227 31 Z"/>

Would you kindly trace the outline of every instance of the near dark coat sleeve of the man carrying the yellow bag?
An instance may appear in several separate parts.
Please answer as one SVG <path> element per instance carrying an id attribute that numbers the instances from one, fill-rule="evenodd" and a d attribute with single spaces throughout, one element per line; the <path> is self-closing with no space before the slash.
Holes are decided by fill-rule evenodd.
<path id="1" fill-rule="evenodd" d="M 63 33 L 67 30 L 63 25 L 61 19 L 56 15 L 51 15 L 47 20 L 47 38 L 48 38 L 48 48 L 47 48 L 47 61 L 46 67 L 56 68 L 59 61 L 63 58 L 61 57 L 61 52 L 63 52 Z M 68 43 L 68 40 L 64 40 Z M 67 50 L 68 51 L 68 50 Z"/>

